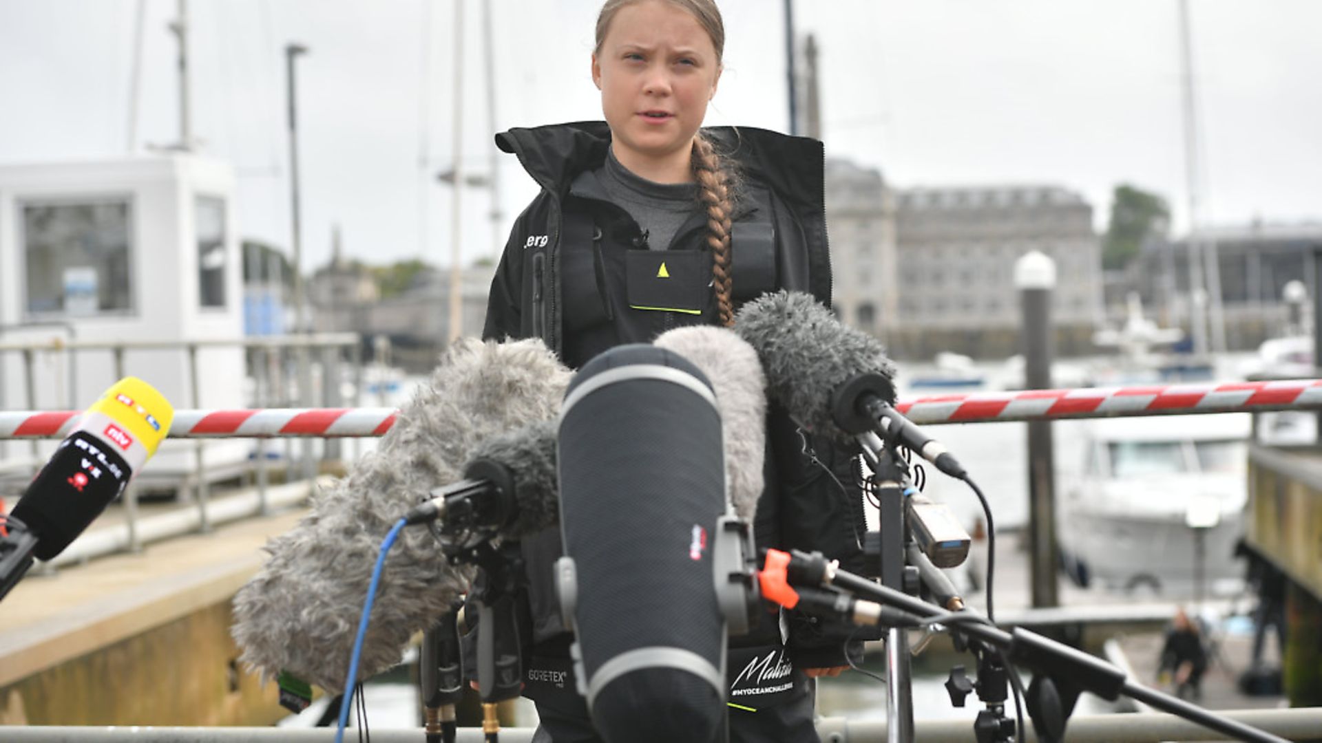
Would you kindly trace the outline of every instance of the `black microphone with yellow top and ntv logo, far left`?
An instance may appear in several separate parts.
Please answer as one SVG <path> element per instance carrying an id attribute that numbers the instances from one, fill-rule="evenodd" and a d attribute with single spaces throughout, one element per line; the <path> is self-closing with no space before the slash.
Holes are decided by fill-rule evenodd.
<path id="1" fill-rule="evenodd" d="M 8 520 L 0 521 L 0 598 L 32 566 L 65 551 L 169 434 L 175 409 L 147 382 L 115 382 L 78 423 L 28 485 Z"/>

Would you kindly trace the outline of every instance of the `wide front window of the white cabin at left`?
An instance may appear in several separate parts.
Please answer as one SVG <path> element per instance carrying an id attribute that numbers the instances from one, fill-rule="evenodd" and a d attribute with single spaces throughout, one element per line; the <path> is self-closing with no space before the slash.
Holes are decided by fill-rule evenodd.
<path id="1" fill-rule="evenodd" d="M 22 206 L 28 315 L 132 309 L 127 198 Z"/>

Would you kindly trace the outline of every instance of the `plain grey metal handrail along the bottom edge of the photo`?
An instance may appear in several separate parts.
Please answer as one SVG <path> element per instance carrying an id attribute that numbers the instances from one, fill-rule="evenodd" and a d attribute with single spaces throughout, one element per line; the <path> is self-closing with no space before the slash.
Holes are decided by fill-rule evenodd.
<path id="1" fill-rule="evenodd" d="M 1218 714 L 1294 740 L 1314 738 L 1317 736 L 1317 731 L 1322 730 L 1322 707 L 1228 710 L 1219 711 Z M 330 727 L 0 726 L 0 740 L 5 740 L 5 743 L 165 743 L 175 740 L 190 740 L 193 743 L 239 743 L 249 740 L 320 743 L 333 740 L 334 732 L 334 728 Z M 375 728 L 371 731 L 371 736 L 381 743 L 414 743 L 419 739 L 420 732 L 420 727 Z M 820 718 L 817 721 L 817 732 L 824 743 L 884 740 L 886 721 L 850 721 L 841 717 Z M 506 743 L 527 743 L 533 739 L 533 728 L 502 727 L 500 735 L 501 740 Z M 1072 717 L 1069 718 L 1067 735 L 1069 743 L 1227 739 L 1206 727 L 1162 713 Z M 924 743 L 965 743 L 972 738 L 972 719 L 925 719 L 915 722 L 915 739 Z M 1025 731 L 1025 739 L 1038 739 L 1031 726 Z M 480 743 L 481 740 L 485 740 L 485 736 L 480 727 L 459 728 L 459 743 Z"/>

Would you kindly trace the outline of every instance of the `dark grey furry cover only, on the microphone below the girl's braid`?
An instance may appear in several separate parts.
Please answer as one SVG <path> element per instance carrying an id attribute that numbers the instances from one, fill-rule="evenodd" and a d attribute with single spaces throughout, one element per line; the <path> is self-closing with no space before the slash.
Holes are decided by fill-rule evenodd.
<path id="1" fill-rule="evenodd" d="M 735 332 L 761 360 L 768 390 L 800 424 L 851 442 L 832 419 L 832 394 L 857 375 L 895 378 L 895 365 L 880 341 L 841 324 L 832 311 L 804 292 L 779 291 L 743 305 Z M 883 395 L 895 403 L 895 390 Z"/>

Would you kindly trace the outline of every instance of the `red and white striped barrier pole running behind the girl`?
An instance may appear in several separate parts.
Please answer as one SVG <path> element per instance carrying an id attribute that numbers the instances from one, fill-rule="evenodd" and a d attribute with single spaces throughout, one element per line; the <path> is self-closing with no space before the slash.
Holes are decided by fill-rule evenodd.
<path id="1" fill-rule="evenodd" d="M 1322 379 L 927 395 L 902 398 L 895 407 L 920 424 L 1322 410 Z M 379 436 L 398 412 L 390 407 L 176 410 L 169 438 Z M 81 416 L 81 411 L 0 412 L 0 439 L 61 439 Z"/>

